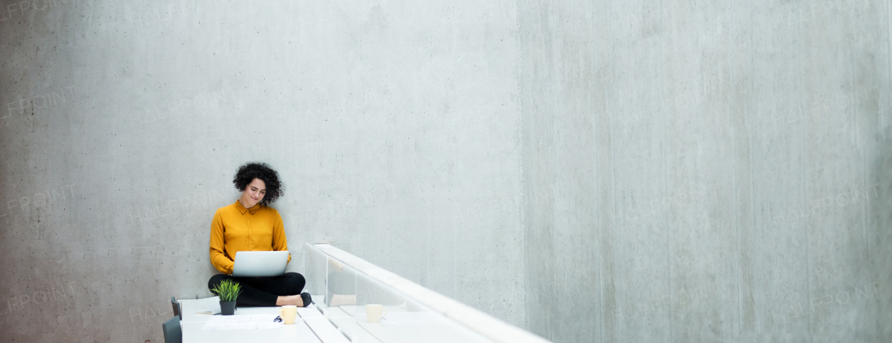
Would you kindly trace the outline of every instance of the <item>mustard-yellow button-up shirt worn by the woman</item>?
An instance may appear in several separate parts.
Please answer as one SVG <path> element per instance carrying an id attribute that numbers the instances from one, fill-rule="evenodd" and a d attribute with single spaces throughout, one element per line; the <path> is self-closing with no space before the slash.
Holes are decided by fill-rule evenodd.
<path id="1" fill-rule="evenodd" d="M 239 251 L 287 251 L 282 216 L 275 208 L 242 203 L 217 209 L 211 222 L 211 264 L 218 271 L 231 274 L 235 253 Z M 291 254 L 288 255 L 291 262 Z"/>

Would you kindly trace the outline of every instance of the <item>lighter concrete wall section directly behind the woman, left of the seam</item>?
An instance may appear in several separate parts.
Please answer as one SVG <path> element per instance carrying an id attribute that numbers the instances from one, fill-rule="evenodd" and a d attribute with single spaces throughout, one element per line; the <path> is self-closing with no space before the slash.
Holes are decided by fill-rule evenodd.
<path id="1" fill-rule="evenodd" d="M 290 270 L 330 240 L 523 325 L 514 4 L 2 4 L 0 340 L 162 341 L 249 161 Z"/>

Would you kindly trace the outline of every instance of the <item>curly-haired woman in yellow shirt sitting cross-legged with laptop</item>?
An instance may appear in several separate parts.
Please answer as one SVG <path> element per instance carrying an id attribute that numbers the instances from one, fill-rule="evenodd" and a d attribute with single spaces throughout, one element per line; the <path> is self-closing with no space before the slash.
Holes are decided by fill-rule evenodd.
<path id="1" fill-rule="evenodd" d="M 285 193 L 278 173 L 266 163 L 246 163 L 235 173 L 235 188 L 242 197 L 233 205 L 221 207 L 211 222 L 211 264 L 222 274 L 211 277 L 208 289 L 222 280 L 235 280 L 242 293 L 238 306 L 310 305 L 310 294 L 302 293 L 306 280 L 296 272 L 282 276 L 234 278 L 232 267 L 238 251 L 287 251 L 282 216 L 268 205 Z M 288 255 L 291 262 L 291 255 Z"/>

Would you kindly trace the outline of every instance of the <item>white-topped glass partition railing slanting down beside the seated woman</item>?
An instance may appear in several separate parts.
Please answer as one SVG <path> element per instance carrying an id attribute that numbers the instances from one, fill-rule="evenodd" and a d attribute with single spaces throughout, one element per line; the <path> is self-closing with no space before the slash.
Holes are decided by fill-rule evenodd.
<path id="1" fill-rule="evenodd" d="M 327 244 L 307 244 L 306 289 L 353 342 L 549 342 Z M 368 322 L 366 306 L 387 315 Z"/>

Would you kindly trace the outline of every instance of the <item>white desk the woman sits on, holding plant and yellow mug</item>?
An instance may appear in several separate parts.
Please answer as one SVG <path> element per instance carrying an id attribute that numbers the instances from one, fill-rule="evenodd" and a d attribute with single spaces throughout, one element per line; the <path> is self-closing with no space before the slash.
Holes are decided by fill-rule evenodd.
<path id="1" fill-rule="evenodd" d="M 209 314 L 197 312 L 219 312 L 219 300 L 214 298 L 180 300 L 183 320 L 184 343 L 226 343 L 226 342 L 308 342 L 308 343 L 349 343 L 331 322 L 326 321 L 319 311 L 310 307 L 298 307 L 299 318 L 292 325 L 282 329 L 267 330 L 202 330 L 205 322 L 211 319 Z M 244 314 L 276 314 L 279 307 L 241 307 L 235 315 Z M 309 325 L 308 325 L 309 324 Z"/>

